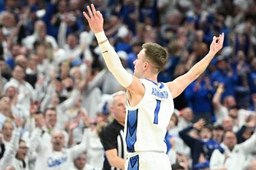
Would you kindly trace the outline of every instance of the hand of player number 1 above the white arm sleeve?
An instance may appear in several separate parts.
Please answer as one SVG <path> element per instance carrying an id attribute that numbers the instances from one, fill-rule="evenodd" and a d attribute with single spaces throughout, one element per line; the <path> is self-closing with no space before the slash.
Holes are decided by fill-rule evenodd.
<path id="1" fill-rule="evenodd" d="M 95 5 L 91 5 L 92 10 L 89 5 L 87 5 L 87 11 L 89 15 L 84 11 L 84 17 L 86 17 L 89 22 L 90 29 L 92 29 L 93 33 L 98 33 L 103 30 L 103 17 L 100 11 L 95 10 Z"/>

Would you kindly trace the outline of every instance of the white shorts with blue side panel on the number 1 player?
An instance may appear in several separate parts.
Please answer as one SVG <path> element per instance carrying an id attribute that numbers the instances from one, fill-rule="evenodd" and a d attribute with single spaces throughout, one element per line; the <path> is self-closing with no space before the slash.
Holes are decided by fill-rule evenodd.
<path id="1" fill-rule="evenodd" d="M 172 170 L 167 154 L 159 152 L 140 152 L 128 156 L 126 170 Z"/>

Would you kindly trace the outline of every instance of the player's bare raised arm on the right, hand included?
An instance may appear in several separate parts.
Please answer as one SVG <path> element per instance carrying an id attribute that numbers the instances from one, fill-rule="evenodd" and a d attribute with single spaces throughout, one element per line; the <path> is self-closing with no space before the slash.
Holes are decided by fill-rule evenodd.
<path id="1" fill-rule="evenodd" d="M 214 36 L 209 53 L 185 73 L 185 75 L 179 76 L 174 81 L 167 83 L 173 98 L 181 94 L 191 82 L 196 80 L 205 71 L 212 58 L 214 58 L 215 54 L 223 47 L 223 41 L 224 33 L 219 37 Z"/>

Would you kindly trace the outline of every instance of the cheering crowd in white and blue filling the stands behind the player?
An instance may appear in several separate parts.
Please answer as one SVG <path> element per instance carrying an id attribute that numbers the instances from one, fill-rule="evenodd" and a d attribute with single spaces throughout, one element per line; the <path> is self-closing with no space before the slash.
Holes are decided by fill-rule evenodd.
<path id="1" fill-rule="evenodd" d="M 223 50 L 174 100 L 167 154 L 173 170 L 255 170 L 255 0 L 0 0 L 0 169 L 102 169 L 109 96 L 124 89 L 83 16 L 91 3 L 128 72 L 145 42 L 167 49 L 160 82 L 225 33 Z"/>

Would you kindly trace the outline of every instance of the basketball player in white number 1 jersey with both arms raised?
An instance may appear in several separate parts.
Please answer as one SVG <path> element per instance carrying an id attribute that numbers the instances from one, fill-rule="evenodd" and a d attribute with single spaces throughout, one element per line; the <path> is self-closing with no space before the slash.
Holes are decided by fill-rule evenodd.
<path id="1" fill-rule="evenodd" d="M 167 62 L 167 52 L 158 44 L 147 43 L 135 60 L 134 75 L 130 75 L 121 65 L 114 48 L 103 32 L 103 17 L 100 11 L 87 6 L 84 16 L 95 33 L 100 51 L 109 71 L 127 89 L 126 136 L 128 159 L 126 169 L 170 170 L 164 136 L 173 112 L 173 98 L 200 74 L 214 55 L 223 47 L 224 34 L 214 36 L 209 53 L 195 64 L 185 75 L 166 84 L 157 82 L 157 75 Z"/>

